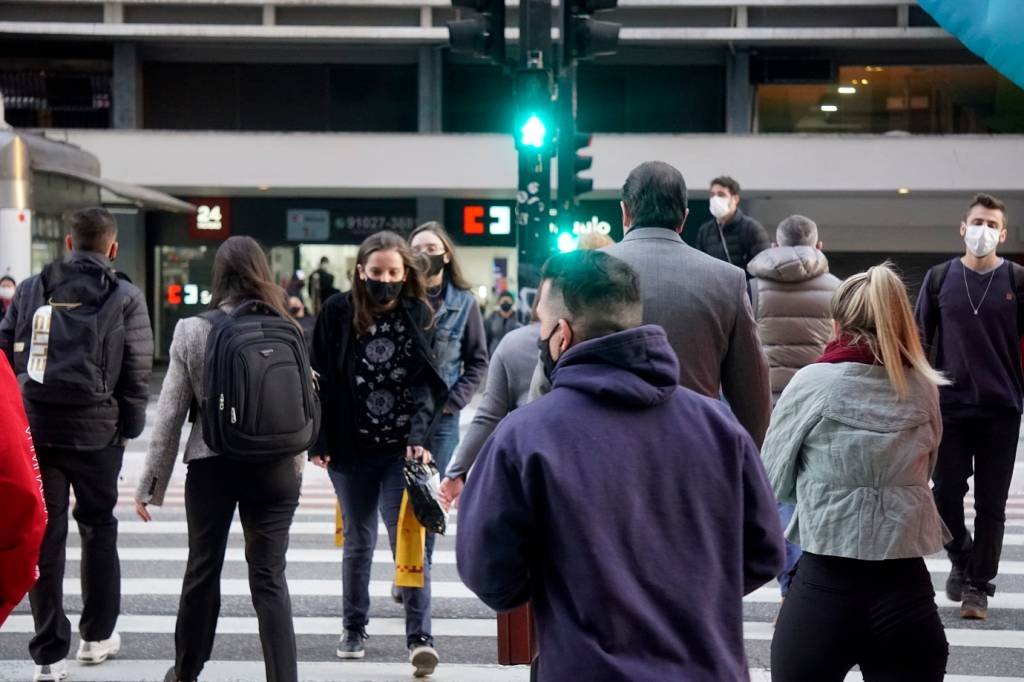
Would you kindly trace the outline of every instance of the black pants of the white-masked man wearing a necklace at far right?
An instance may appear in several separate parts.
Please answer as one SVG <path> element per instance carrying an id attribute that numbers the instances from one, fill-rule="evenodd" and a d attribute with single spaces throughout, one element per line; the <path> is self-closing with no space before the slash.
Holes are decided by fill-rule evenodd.
<path id="1" fill-rule="evenodd" d="M 1007 496 L 1017 459 L 1021 416 L 943 416 L 942 443 L 932 478 L 939 515 L 952 534 L 946 551 L 967 582 L 985 586 L 999 570 Z M 974 474 L 974 538 L 964 524 L 967 479 Z"/>

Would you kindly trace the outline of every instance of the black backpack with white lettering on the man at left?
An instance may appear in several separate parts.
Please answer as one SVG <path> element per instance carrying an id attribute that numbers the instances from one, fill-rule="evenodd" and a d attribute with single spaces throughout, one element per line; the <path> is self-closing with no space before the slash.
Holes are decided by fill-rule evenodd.
<path id="1" fill-rule="evenodd" d="M 30 296 L 27 399 L 96 404 L 111 398 L 124 356 L 124 299 L 111 269 L 57 262 L 43 269 Z"/>

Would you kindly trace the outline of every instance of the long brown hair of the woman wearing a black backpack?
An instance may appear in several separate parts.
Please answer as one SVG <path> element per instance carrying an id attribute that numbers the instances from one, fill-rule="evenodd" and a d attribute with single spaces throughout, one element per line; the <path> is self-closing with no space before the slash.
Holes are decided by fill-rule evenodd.
<path id="1" fill-rule="evenodd" d="M 228 237 L 213 258 L 210 309 L 245 301 L 260 301 L 294 324 L 285 290 L 273 281 L 270 261 L 259 242 L 251 237 Z"/>

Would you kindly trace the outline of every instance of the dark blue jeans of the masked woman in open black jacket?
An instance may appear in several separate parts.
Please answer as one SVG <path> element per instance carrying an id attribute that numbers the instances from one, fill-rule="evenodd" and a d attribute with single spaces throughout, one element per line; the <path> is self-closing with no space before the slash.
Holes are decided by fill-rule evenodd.
<path id="1" fill-rule="evenodd" d="M 364 457 L 344 471 L 328 469 L 341 502 L 345 552 L 341 561 L 342 608 L 346 630 L 370 622 L 370 573 L 377 547 L 377 510 L 384 517 L 391 556 L 406 481 L 401 457 Z M 406 607 L 406 639 L 430 637 L 430 562 L 425 561 L 423 588 L 399 588 Z"/>

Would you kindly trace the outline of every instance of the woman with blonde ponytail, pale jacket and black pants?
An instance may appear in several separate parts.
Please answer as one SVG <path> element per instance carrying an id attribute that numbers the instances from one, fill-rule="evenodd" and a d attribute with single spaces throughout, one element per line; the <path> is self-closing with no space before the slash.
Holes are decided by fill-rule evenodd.
<path id="1" fill-rule="evenodd" d="M 793 378 L 762 457 L 804 554 L 772 640 L 775 682 L 941 680 L 948 645 L 924 557 L 949 539 L 929 478 L 938 386 L 888 264 L 844 282 L 835 338 Z"/>

